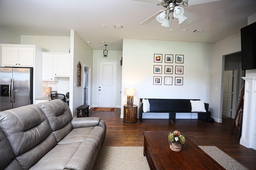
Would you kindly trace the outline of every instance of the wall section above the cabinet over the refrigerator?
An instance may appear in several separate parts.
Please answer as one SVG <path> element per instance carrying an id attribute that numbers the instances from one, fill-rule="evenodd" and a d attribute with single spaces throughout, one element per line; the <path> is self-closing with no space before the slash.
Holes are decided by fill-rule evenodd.
<path id="1" fill-rule="evenodd" d="M 20 35 L 0 26 L 0 43 L 20 44 Z"/>

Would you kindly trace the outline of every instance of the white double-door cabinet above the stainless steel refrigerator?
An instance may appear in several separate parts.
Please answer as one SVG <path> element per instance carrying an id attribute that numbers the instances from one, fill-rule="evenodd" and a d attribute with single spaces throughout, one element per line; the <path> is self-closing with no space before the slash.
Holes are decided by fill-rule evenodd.
<path id="1" fill-rule="evenodd" d="M 33 67 L 36 45 L 1 44 L 2 66 Z"/>

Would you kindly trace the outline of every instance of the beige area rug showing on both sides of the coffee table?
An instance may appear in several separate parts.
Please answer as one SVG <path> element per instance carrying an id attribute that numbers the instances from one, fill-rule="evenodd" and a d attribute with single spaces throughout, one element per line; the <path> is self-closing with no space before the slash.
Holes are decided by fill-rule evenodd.
<path id="1" fill-rule="evenodd" d="M 227 170 L 247 170 L 215 146 L 199 146 Z M 102 147 L 94 170 L 150 170 L 143 147 Z"/>

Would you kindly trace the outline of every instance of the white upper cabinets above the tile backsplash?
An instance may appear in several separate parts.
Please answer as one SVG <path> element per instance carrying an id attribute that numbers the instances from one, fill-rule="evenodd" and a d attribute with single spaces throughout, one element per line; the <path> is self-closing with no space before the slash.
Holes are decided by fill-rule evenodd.
<path id="1" fill-rule="evenodd" d="M 58 81 L 70 76 L 70 53 L 42 53 L 42 80 Z"/>

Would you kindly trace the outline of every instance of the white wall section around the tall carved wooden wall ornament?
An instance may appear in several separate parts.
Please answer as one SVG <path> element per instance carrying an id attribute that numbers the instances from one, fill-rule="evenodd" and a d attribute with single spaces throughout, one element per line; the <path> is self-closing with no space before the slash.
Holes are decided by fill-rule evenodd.
<path id="1" fill-rule="evenodd" d="M 70 63 L 73 66 L 72 73 L 73 77 L 70 76 L 70 95 L 72 95 L 73 100 L 70 101 L 70 109 L 73 113 L 73 117 L 76 116 L 76 108 L 83 104 L 83 84 L 80 87 L 76 86 L 77 78 L 77 64 L 80 61 L 82 66 L 82 78 L 81 82 L 84 82 L 84 69 L 83 66 L 86 65 L 88 68 L 92 68 L 92 48 L 76 33 L 76 31 L 70 31 L 70 55 L 73 57 L 74 63 Z M 92 75 L 88 75 L 91 77 Z M 92 91 L 90 91 L 90 94 Z M 91 98 L 91 97 L 90 97 Z M 91 102 L 90 102 L 91 103 Z M 89 104 L 91 106 L 91 104 Z"/>

